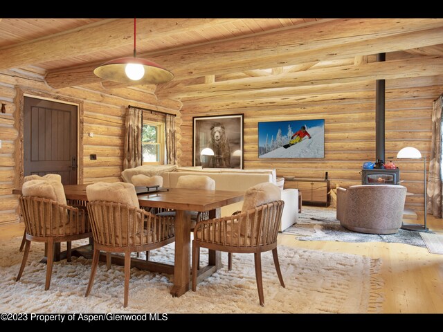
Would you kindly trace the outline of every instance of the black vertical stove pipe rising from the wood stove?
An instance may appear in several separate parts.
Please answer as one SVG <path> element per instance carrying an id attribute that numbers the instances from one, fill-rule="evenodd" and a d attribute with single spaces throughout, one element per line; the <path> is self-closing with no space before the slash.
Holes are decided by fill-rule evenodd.
<path id="1" fill-rule="evenodd" d="M 377 62 L 386 60 L 386 53 L 377 54 Z M 377 165 L 385 160 L 385 80 L 375 82 L 375 158 Z"/>

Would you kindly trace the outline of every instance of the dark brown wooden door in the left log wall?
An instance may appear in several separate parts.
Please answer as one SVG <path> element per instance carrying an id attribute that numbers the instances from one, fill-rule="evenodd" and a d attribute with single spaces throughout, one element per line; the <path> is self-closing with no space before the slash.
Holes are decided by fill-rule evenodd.
<path id="1" fill-rule="evenodd" d="M 60 174 L 64 185 L 77 184 L 78 109 L 24 98 L 24 175 Z"/>

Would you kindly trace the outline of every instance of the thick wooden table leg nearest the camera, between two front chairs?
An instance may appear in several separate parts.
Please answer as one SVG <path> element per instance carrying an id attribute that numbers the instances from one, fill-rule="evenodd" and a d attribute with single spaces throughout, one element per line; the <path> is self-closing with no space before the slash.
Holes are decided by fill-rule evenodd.
<path id="1" fill-rule="evenodd" d="M 175 212 L 175 255 L 174 255 L 174 286 L 172 296 L 181 296 L 190 287 L 190 243 L 191 243 L 191 214 L 189 211 Z"/>

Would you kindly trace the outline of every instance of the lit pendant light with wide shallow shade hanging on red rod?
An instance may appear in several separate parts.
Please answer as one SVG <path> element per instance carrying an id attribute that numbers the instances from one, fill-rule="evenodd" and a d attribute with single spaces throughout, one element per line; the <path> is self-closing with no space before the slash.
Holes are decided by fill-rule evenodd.
<path id="1" fill-rule="evenodd" d="M 137 57 L 136 19 L 134 19 L 134 57 L 120 57 L 94 69 L 103 80 L 123 84 L 160 84 L 169 82 L 174 74 L 155 62 Z"/>

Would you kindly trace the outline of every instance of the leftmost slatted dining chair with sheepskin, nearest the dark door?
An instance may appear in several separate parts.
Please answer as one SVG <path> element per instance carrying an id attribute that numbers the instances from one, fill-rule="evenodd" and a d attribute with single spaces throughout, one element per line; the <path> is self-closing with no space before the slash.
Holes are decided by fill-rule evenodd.
<path id="1" fill-rule="evenodd" d="M 55 243 L 91 237 L 91 228 L 85 210 L 66 205 L 63 185 L 57 181 L 33 180 L 24 183 L 20 208 L 25 223 L 25 249 L 16 282 L 26 266 L 31 241 L 46 242 L 45 291 L 51 284 Z M 71 261 L 71 250 L 67 252 Z"/>

